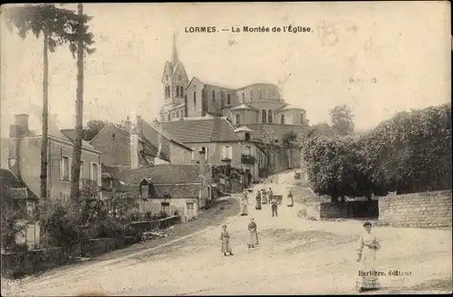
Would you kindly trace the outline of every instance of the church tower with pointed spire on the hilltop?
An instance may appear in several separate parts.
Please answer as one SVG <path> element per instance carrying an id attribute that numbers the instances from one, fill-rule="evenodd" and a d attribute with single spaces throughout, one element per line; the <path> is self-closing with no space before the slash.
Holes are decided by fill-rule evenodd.
<path id="1" fill-rule="evenodd" d="M 173 34 L 171 61 L 165 63 L 161 82 L 164 91 L 164 105 L 160 110 L 160 121 L 169 121 L 172 119 L 172 110 L 184 104 L 185 90 L 188 85 L 188 74 L 178 59 L 175 34 Z"/>

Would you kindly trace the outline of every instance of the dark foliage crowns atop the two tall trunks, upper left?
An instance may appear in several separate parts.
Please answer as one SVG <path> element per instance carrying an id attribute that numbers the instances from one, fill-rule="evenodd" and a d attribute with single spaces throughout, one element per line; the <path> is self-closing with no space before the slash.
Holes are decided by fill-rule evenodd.
<path id="1" fill-rule="evenodd" d="M 79 39 L 83 42 L 84 53 L 92 54 L 95 49 L 93 34 L 88 32 L 87 23 L 92 19 L 86 14 L 76 14 L 54 4 L 16 5 L 5 9 L 6 25 L 10 31 L 15 27 L 23 39 L 32 32 L 36 38 L 41 34 L 47 35 L 49 51 L 69 43 L 69 49 L 75 58 Z"/>

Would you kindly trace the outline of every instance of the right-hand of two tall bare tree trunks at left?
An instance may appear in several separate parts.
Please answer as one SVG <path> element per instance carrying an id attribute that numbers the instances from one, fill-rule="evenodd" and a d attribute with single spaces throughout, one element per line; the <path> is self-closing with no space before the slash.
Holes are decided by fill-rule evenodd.
<path id="1" fill-rule="evenodd" d="M 79 15 L 83 14 L 83 5 L 78 5 Z M 82 23 L 81 23 L 82 26 Z M 82 33 L 82 28 L 79 32 Z M 71 198 L 78 200 L 80 198 L 80 177 L 82 164 L 82 137 L 83 137 L 83 41 L 79 38 L 77 43 L 77 91 L 75 101 L 75 139 L 74 149 L 72 151 L 72 185 Z"/>

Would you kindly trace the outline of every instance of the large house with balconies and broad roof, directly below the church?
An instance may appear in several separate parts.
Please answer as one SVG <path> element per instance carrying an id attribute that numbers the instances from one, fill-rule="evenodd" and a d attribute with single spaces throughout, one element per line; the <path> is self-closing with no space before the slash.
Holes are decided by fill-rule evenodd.
<path id="1" fill-rule="evenodd" d="M 225 118 L 178 120 L 159 124 L 162 130 L 180 139 L 193 150 L 192 162 L 200 161 L 203 151 L 210 165 L 229 163 L 242 168 L 252 179 L 259 177 L 260 169 L 267 167 L 265 152 L 255 145 L 254 132 L 244 127 L 236 129 Z"/>

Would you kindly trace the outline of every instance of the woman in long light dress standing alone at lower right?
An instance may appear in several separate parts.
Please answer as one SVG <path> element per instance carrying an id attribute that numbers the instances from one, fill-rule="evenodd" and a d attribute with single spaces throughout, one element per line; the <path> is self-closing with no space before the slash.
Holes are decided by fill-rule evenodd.
<path id="1" fill-rule="evenodd" d="M 363 224 L 365 232 L 359 239 L 357 247 L 357 262 L 361 264 L 361 268 L 357 275 L 355 288 L 357 291 L 370 291 L 381 288 L 376 272 L 376 252 L 381 248 L 377 237 L 371 233 L 371 223 Z"/>

